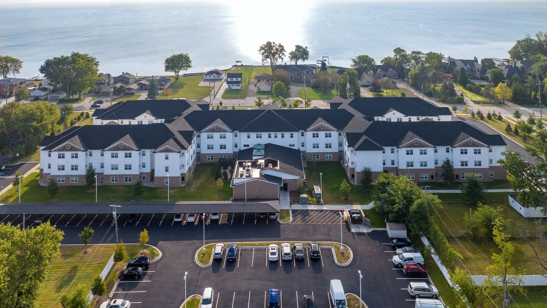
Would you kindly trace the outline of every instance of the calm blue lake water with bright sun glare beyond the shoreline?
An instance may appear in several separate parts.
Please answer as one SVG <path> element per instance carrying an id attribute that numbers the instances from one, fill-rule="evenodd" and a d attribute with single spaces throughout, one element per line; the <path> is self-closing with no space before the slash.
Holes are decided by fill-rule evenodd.
<path id="1" fill-rule="evenodd" d="M 76 1 L 76 0 L 75 0 Z M 0 54 L 24 61 L 19 77 L 38 75 L 45 59 L 89 53 L 100 71 L 163 74 L 164 59 L 188 53 L 190 72 L 261 64 L 258 47 L 282 43 L 348 66 L 368 54 L 376 62 L 395 47 L 458 59 L 505 58 L 516 39 L 547 31 L 547 2 L 154 3 L 0 8 Z M 283 61 L 284 62 L 284 61 Z M 288 62 L 288 59 L 287 59 Z"/>

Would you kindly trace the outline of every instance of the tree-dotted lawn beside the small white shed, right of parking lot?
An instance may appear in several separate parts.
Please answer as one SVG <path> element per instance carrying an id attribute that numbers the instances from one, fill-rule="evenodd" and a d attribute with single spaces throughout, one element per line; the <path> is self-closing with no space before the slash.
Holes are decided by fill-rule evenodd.
<path id="1" fill-rule="evenodd" d="M 497 245 L 489 238 L 472 239 L 465 237 L 465 216 L 470 206 L 462 199 L 461 193 L 438 193 L 436 194 L 443 201 L 443 209 L 438 209 L 439 215 L 434 214 L 437 225 L 448 239 L 451 246 L 463 255 L 463 263 L 472 275 L 486 275 L 484 267 L 491 265 L 492 253 L 499 253 Z M 507 226 L 507 233 L 511 234 L 515 247 L 513 265 L 527 269 L 527 275 L 539 275 L 537 261 L 527 258 L 532 255 L 532 248 L 520 238 L 520 226 L 523 221 L 532 223 L 534 218 L 523 218 L 515 209 L 509 206 L 508 196 L 505 192 L 487 193 L 485 203 L 494 207 L 502 207 L 504 218 L 510 219 Z M 445 225 L 446 224 L 446 225 Z M 543 223 L 547 226 L 547 223 Z M 456 236 L 457 240 L 452 236 Z M 535 242 L 533 240 L 532 242 Z M 547 255 L 545 255 L 547 257 Z M 476 260 L 476 261 L 475 261 Z M 448 265 L 453 269 L 453 265 Z"/>

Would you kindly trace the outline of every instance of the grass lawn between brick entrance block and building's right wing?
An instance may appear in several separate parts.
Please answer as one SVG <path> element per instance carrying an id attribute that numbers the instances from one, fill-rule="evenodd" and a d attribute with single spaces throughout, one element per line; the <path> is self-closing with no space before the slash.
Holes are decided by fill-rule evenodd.
<path id="1" fill-rule="evenodd" d="M 316 164 L 316 166 L 313 166 Z M 324 204 L 368 204 L 372 201 L 370 193 L 364 193 L 361 186 L 351 185 L 350 199 L 342 199 L 340 184 L 350 182 L 340 162 L 307 162 L 305 168 L 308 195 L 313 193 L 313 184 L 321 184 L 320 174 L 323 173 L 323 203 Z"/>

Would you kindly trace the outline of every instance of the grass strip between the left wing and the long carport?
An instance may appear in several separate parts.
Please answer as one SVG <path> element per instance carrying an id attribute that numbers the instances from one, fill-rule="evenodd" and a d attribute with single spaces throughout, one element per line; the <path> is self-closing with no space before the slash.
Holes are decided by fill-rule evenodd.
<path id="1" fill-rule="evenodd" d="M 216 164 L 202 163 L 197 165 L 194 171 L 194 179 L 186 186 L 170 187 L 171 201 L 226 201 L 232 197 L 230 182 L 224 182 L 222 191 L 217 189 L 217 183 L 213 180 L 213 170 Z M 85 186 L 60 186 L 54 197 L 50 197 L 47 187 L 38 184 L 39 174 L 31 173 L 23 179 L 21 185 L 21 202 L 49 202 L 57 199 L 57 202 L 91 202 L 95 201 L 95 189 L 89 192 Z M 188 191 L 191 189 L 191 191 Z M 222 197 L 217 197 L 222 195 Z M 140 198 L 142 201 L 166 201 L 167 188 L 144 187 L 142 196 L 133 196 L 132 185 L 101 185 L 98 186 L 98 201 L 130 201 Z M 0 202 L 16 202 L 19 200 L 19 192 L 11 187 L 4 193 Z"/>

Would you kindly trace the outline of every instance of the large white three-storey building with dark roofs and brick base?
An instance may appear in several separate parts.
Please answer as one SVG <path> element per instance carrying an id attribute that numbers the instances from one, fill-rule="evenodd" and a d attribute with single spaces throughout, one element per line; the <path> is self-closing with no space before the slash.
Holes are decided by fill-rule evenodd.
<path id="1" fill-rule="evenodd" d="M 140 178 L 156 187 L 176 186 L 187 181 L 197 162 L 228 158 L 236 161 L 231 185 L 238 197 L 247 184 L 257 195 L 272 197 L 276 192 L 266 193 L 273 189 L 268 187 L 295 190 L 296 180 L 305 179 L 305 162 L 314 160 L 339 161 L 353 184 L 359 184 L 364 167 L 375 176 L 440 180 L 445 158 L 457 180 L 467 173 L 506 178 L 496 162 L 507 146 L 499 134 L 452 121 L 449 108 L 419 98 L 337 99 L 330 109 L 292 110 L 276 105 L 210 110 L 203 100 L 138 100 L 98 109 L 92 117 L 92 126 L 43 139 L 43 181 L 84 185 L 92 166 L 103 185 Z"/>

